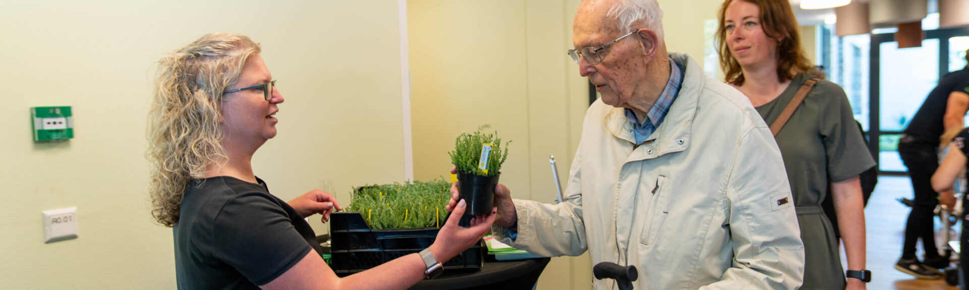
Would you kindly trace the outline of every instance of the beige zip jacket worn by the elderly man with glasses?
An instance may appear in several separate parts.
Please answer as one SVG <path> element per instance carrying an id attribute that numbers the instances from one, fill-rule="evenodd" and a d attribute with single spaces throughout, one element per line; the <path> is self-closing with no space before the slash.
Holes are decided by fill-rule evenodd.
<path id="1" fill-rule="evenodd" d="M 797 289 L 804 271 L 780 150 L 750 102 L 690 56 L 666 119 L 641 145 L 623 109 L 597 101 L 559 205 L 515 200 L 516 241 L 546 256 L 589 251 L 636 265 L 638 290 Z M 596 289 L 616 288 L 594 280 Z"/>

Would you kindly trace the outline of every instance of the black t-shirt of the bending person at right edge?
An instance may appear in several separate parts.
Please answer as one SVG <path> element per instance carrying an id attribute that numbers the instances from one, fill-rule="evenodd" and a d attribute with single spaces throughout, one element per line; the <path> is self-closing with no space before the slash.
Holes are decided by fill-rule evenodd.
<path id="1" fill-rule="evenodd" d="M 938 146 L 939 136 L 945 133 L 942 117 L 946 114 L 949 94 L 953 91 L 969 93 L 969 69 L 954 71 L 942 77 L 939 85 L 925 97 L 922 108 L 912 117 L 904 133 L 928 145 Z"/>

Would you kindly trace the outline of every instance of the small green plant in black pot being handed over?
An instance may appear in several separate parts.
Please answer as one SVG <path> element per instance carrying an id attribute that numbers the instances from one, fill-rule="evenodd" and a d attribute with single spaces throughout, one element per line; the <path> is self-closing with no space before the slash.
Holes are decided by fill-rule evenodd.
<path id="1" fill-rule="evenodd" d="M 454 141 L 454 150 L 448 152 L 457 169 L 457 185 L 461 199 L 468 205 L 468 213 L 483 215 L 491 213 L 494 203 L 494 186 L 501 176 L 501 165 L 508 158 L 508 145 L 501 144 L 498 133 L 485 134 L 478 128 L 472 134 L 462 133 Z"/>

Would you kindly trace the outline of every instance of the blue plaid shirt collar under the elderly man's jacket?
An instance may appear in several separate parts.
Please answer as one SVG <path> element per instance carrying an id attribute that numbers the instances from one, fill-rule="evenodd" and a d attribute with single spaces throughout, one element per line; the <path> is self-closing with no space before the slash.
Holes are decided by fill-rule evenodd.
<path id="1" fill-rule="evenodd" d="M 656 128 L 663 123 L 666 114 L 670 113 L 672 101 L 679 94 L 679 88 L 682 84 L 683 68 L 676 65 L 672 61 L 672 58 L 670 58 L 670 80 L 667 81 L 667 86 L 663 89 L 663 93 L 660 94 L 660 98 L 656 100 L 656 104 L 653 104 L 653 108 L 649 109 L 649 112 L 646 113 L 646 119 L 639 121 L 636 119 L 636 113 L 633 113 L 633 110 L 626 109 L 626 117 L 633 124 L 633 135 L 636 136 L 637 144 L 645 142 L 646 138 L 649 138 L 649 135 L 652 135 L 653 131 L 656 131 Z"/>

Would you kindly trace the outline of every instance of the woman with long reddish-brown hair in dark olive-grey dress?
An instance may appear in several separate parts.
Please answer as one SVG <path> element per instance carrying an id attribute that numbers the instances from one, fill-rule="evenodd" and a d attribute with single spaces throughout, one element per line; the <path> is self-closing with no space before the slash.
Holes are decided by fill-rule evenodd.
<path id="1" fill-rule="evenodd" d="M 784 157 L 804 242 L 800 289 L 864 289 L 870 272 L 864 270 L 859 175 L 875 162 L 844 90 L 819 80 L 824 74 L 804 57 L 797 29 L 787 0 L 727 0 L 717 29 L 720 64 L 727 83 L 750 99 L 766 123 L 778 123 L 771 131 Z M 784 122 L 781 115 L 789 105 L 794 111 Z M 848 255 L 847 281 L 830 224 L 834 221 L 821 209 L 828 188 Z"/>

